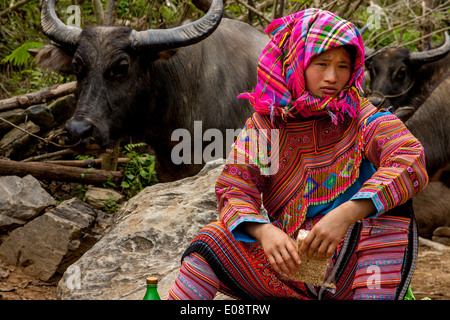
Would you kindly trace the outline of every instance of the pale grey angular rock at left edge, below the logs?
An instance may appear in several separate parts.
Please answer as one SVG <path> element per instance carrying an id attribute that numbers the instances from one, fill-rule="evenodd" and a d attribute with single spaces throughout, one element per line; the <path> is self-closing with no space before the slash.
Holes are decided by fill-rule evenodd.
<path id="1" fill-rule="evenodd" d="M 33 176 L 0 177 L 0 230 L 8 231 L 25 224 L 46 207 L 55 205 L 53 199 Z"/>

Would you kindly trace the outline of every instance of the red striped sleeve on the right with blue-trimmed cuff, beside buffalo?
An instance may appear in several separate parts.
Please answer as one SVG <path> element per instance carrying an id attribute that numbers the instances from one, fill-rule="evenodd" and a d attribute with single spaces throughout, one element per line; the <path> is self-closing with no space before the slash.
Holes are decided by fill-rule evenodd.
<path id="1" fill-rule="evenodd" d="M 428 183 L 425 155 L 420 142 L 403 122 L 388 111 L 379 111 L 363 124 L 366 158 L 376 172 L 353 199 L 372 199 L 382 214 L 414 197 Z"/>

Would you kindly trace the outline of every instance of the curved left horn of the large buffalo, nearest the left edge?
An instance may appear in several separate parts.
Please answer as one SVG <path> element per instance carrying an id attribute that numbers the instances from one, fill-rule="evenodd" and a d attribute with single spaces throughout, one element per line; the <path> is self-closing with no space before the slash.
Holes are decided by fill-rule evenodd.
<path id="1" fill-rule="evenodd" d="M 41 10 L 41 26 L 44 34 L 56 43 L 75 46 L 81 29 L 66 26 L 55 13 L 55 0 L 44 0 Z"/>

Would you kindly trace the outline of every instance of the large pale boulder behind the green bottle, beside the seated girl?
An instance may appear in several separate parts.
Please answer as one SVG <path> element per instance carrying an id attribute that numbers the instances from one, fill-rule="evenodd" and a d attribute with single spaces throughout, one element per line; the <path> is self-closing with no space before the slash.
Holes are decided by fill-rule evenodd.
<path id="1" fill-rule="evenodd" d="M 142 299 L 145 278 L 168 296 L 180 259 L 198 231 L 217 220 L 215 182 L 223 161 L 195 177 L 147 187 L 129 200 L 115 226 L 64 273 L 60 299 Z"/>

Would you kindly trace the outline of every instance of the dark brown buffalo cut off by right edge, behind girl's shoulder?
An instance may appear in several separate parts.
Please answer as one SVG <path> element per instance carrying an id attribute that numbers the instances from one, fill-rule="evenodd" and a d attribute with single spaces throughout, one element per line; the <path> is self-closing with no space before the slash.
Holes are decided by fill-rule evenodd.
<path id="1" fill-rule="evenodd" d="M 431 238 L 450 226 L 450 39 L 439 48 L 410 52 L 389 48 L 369 53 L 368 98 L 405 122 L 425 149 L 432 182 L 413 199 L 419 235 Z M 438 181 L 440 180 L 440 181 Z"/>

